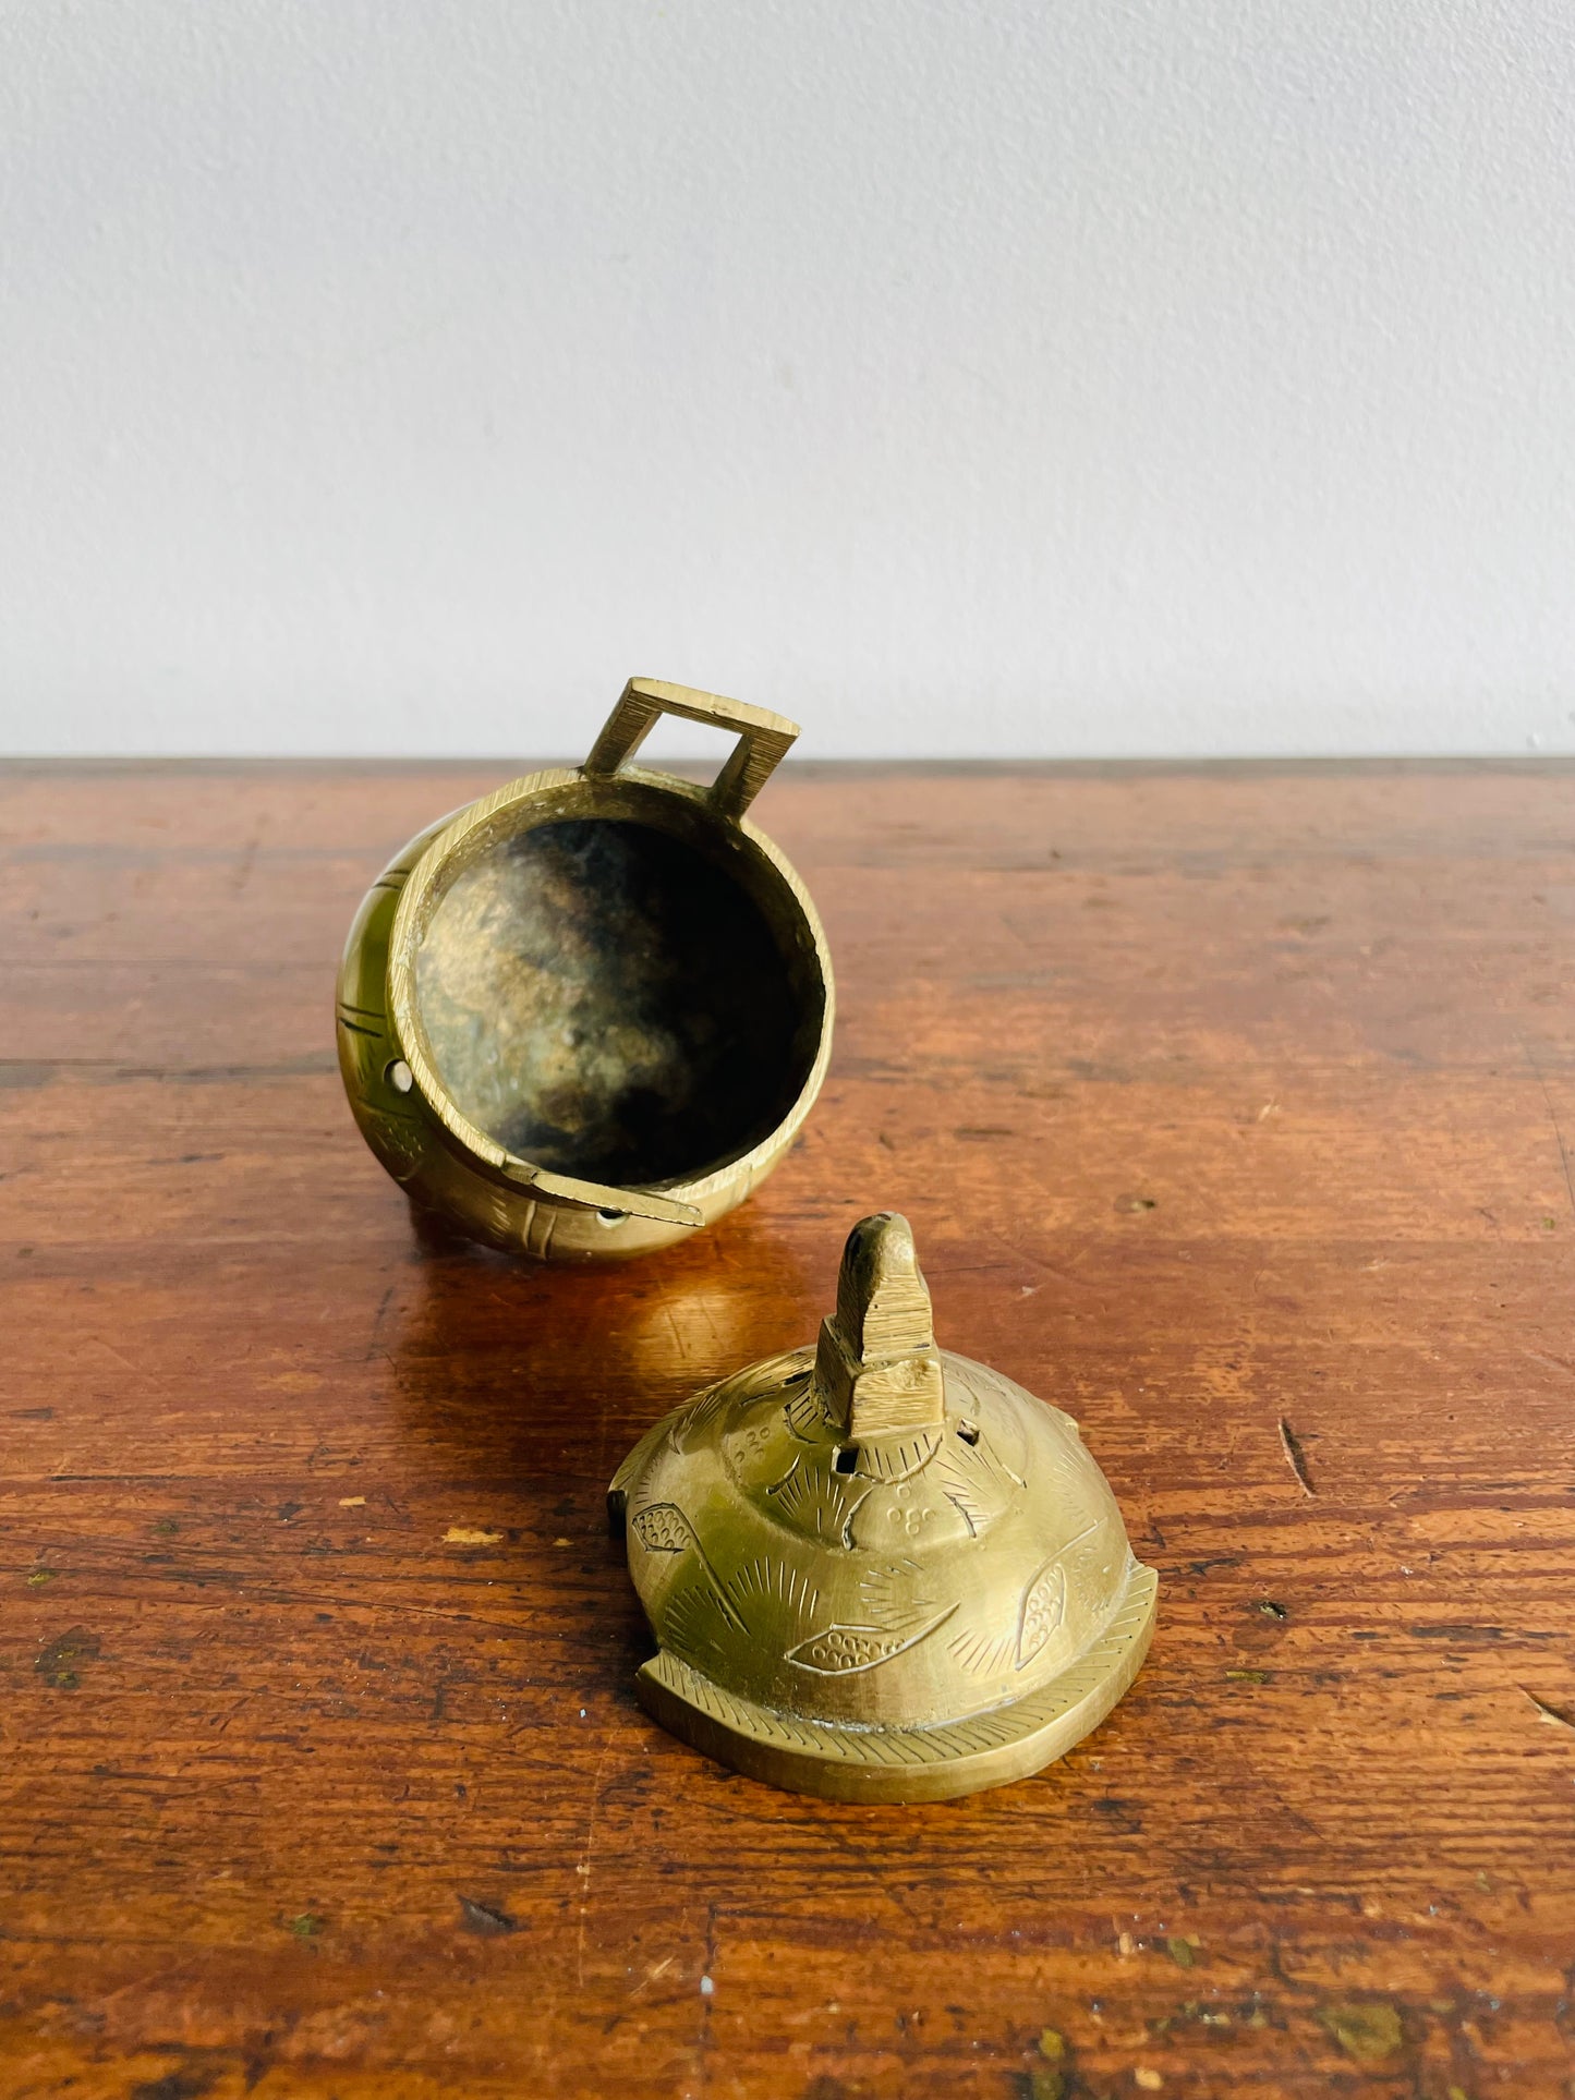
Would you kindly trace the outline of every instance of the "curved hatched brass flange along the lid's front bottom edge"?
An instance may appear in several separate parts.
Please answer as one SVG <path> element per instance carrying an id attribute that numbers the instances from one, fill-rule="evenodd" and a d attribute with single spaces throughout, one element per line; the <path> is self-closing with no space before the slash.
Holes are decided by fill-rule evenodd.
<path id="1" fill-rule="evenodd" d="M 1010 1705 L 924 1728 L 771 1714 L 666 1648 L 636 1690 L 672 1735 L 771 1787 L 832 1802 L 947 1802 L 1027 1779 L 1098 1728 L 1149 1653 L 1157 1590 L 1153 1569 L 1134 1560 L 1115 1615 L 1077 1661 Z"/>

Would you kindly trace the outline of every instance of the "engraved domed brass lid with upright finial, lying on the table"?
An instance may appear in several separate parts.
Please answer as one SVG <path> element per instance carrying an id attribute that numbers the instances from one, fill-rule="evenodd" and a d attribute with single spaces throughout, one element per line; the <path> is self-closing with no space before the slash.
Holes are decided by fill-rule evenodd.
<path id="1" fill-rule="evenodd" d="M 1157 1579 L 1077 1424 L 934 1346 L 905 1218 L 811 1348 L 659 1422 L 609 1491 L 645 1707 L 754 1779 L 932 1802 L 1037 1772 L 1138 1672 Z"/>

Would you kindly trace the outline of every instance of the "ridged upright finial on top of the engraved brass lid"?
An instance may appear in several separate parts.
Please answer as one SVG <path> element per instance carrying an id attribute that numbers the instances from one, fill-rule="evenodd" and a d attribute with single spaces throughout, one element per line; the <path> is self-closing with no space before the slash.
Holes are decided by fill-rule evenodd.
<path id="1" fill-rule="evenodd" d="M 907 1218 L 861 1218 L 842 1250 L 836 1312 L 821 1321 L 815 1382 L 844 1436 L 884 1436 L 945 1420 L 930 1292 Z"/>

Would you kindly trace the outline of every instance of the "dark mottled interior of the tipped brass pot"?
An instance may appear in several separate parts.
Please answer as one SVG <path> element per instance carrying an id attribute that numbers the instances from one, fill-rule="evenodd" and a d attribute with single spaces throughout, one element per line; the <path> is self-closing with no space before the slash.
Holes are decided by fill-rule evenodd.
<path id="1" fill-rule="evenodd" d="M 517 1157 L 611 1184 L 691 1180 L 798 1098 L 823 991 L 743 872 L 649 823 L 496 838 L 416 953 L 435 1071 Z"/>

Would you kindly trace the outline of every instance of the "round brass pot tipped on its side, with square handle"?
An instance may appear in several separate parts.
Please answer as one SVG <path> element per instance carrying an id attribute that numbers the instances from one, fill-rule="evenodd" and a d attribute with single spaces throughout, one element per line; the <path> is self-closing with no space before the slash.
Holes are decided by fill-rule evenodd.
<path id="1" fill-rule="evenodd" d="M 630 764 L 662 714 L 735 731 L 710 788 Z M 832 1050 L 804 884 L 746 817 L 798 727 L 630 678 L 578 769 L 443 817 L 338 974 L 351 1109 L 410 1197 L 542 1260 L 682 1239 L 792 1144 Z"/>

